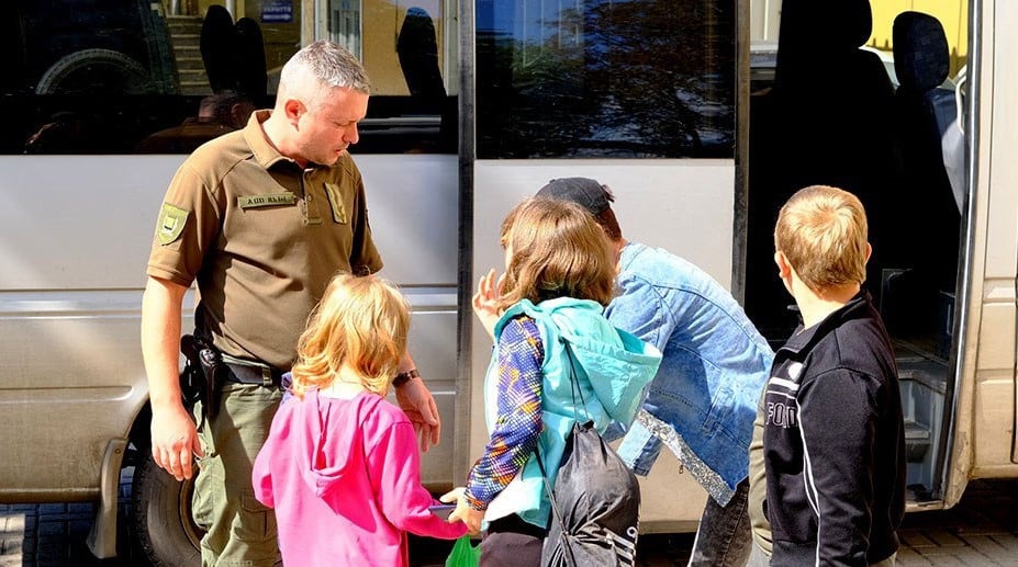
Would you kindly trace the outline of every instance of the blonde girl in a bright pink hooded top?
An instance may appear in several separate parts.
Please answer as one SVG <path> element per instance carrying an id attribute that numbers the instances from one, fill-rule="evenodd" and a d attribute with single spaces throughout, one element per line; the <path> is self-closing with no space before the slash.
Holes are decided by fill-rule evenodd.
<path id="1" fill-rule="evenodd" d="M 410 564 L 406 532 L 445 540 L 410 419 L 384 399 L 406 349 L 410 310 L 374 277 L 338 275 L 301 336 L 293 399 L 255 460 L 256 498 L 276 509 L 286 565 Z"/>

